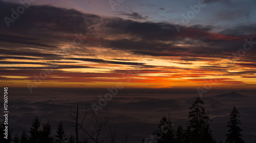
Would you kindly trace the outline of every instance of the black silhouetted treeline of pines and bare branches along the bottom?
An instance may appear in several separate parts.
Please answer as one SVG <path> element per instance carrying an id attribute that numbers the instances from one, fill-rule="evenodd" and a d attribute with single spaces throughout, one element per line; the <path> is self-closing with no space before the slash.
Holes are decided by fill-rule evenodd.
<path id="1" fill-rule="evenodd" d="M 87 106 L 89 107 L 89 106 Z M 143 143 L 221 143 L 222 140 L 217 141 L 212 135 L 208 111 L 204 108 L 204 102 L 201 98 L 197 98 L 189 107 L 188 122 L 186 128 L 178 126 L 175 130 L 170 117 L 163 117 L 160 120 L 158 128 L 153 131 L 148 137 L 142 138 Z M 29 132 L 23 130 L 20 135 L 12 135 L 14 129 L 9 130 L 8 139 L 4 138 L 5 125 L 2 122 L 1 129 L 1 142 L 4 143 L 94 143 L 94 142 L 129 142 L 129 133 L 127 130 L 122 136 L 122 139 L 117 139 L 116 133 L 117 125 L 110 124 L 110 116 L 106 115 L 104 118 L 99 119 L 93 110 L 86 108 L 82 118 L 78 118 L 78 106 L 76 112 L 71 112 L 69 117 L 75 128 L 73 134 L 67 135 L 63 128 L 63 122 L 59 121 L 57 130 L 52 131 L 52 126 L 49 122 L 42 123 L 38 117 L 35 117 L 30 126 Z M 230 120 L 227 121 L 226 143 L 244 143 L 242 139 L 242 129 L 240 128 L 241 121 L 239 111 L 236 106 L 233 107 L 230 113 Z M 78 132 L 83 133 L 83 137 L 78 137 Z"/>

